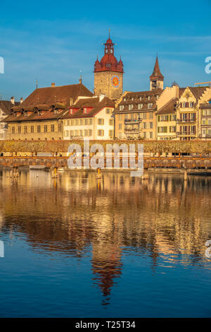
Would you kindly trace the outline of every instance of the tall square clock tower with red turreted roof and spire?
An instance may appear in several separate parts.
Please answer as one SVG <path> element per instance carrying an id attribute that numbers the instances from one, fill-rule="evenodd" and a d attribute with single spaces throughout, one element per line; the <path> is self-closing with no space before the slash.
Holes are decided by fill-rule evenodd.
<path id="1" fill-rule="evenodd" d="M 94 94 L 106 95 L 110 99 L 117 99 L 123 93 L 123 64 L 114 56 L 114 44 L 109 37 L 106 41 L 104 56 L 101 61 L 96 59 L 94 64 Z"/>

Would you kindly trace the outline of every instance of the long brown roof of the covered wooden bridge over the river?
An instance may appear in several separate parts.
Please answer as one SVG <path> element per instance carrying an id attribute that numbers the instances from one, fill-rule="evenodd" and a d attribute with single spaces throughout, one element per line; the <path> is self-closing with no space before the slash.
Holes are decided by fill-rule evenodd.
<path id="1" fill-rule="evenodd" d="M 0 141 L 0 153 L 67 153 L 68 146 L 77 143 L 83 148 L 84 142 L 75 141 Z M 90 146 L 100 143 L 106 151 L 106 144 L 143 144 L 146 153 L 211 153 L 210 141 L 90 141 Z M 83 150 L 83 149 L 82 149 Z"/>

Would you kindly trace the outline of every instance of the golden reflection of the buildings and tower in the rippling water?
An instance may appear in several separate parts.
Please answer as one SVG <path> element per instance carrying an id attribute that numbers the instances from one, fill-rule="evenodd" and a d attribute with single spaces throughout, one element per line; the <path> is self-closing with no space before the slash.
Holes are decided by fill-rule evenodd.
<path id="1" fill-rule="evenodd" d="M 0 173 L 0 227 L 25 234 L 33 250 L 83 258 L 91 252 L 94 284 L 103 303 L 118 283 L 125 250 L 148 256 L 151 266 L 203 264 L 211 238 L 209 177 L 152 174 L 148 182 L 129 173 L 21 172 L 15 182 Z M 11 185 L 11 183 L 13 183 Z M 185 254 L 185 255 L 184 255 Z M 188 258 L 187 258 L 188 257 Z M 149 261 L 146 261 L 148 264 Z"/>

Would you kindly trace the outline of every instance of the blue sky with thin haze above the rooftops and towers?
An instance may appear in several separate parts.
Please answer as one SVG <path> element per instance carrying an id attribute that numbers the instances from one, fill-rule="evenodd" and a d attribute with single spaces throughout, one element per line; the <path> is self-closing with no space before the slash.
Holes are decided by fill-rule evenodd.
<path id="1" fill-rule="evenodd" d="M 27 97 L 36 86 L 83 83 L 94 88 L 94 61 L 102 43 L 117 43 L 124 90 L 148 90 L 156 53 L 165 86 L 211 81 L 211 0 L 1 1 L 2 99 Z"/>

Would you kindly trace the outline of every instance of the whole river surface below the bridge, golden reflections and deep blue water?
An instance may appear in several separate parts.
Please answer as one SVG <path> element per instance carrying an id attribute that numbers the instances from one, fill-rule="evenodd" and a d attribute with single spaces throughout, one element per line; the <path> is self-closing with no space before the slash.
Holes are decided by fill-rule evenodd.
<path id="1" fill-rule="evenodd" d="M 211 177 L 8 175 L 1 317 L 211 317 Z"/>

